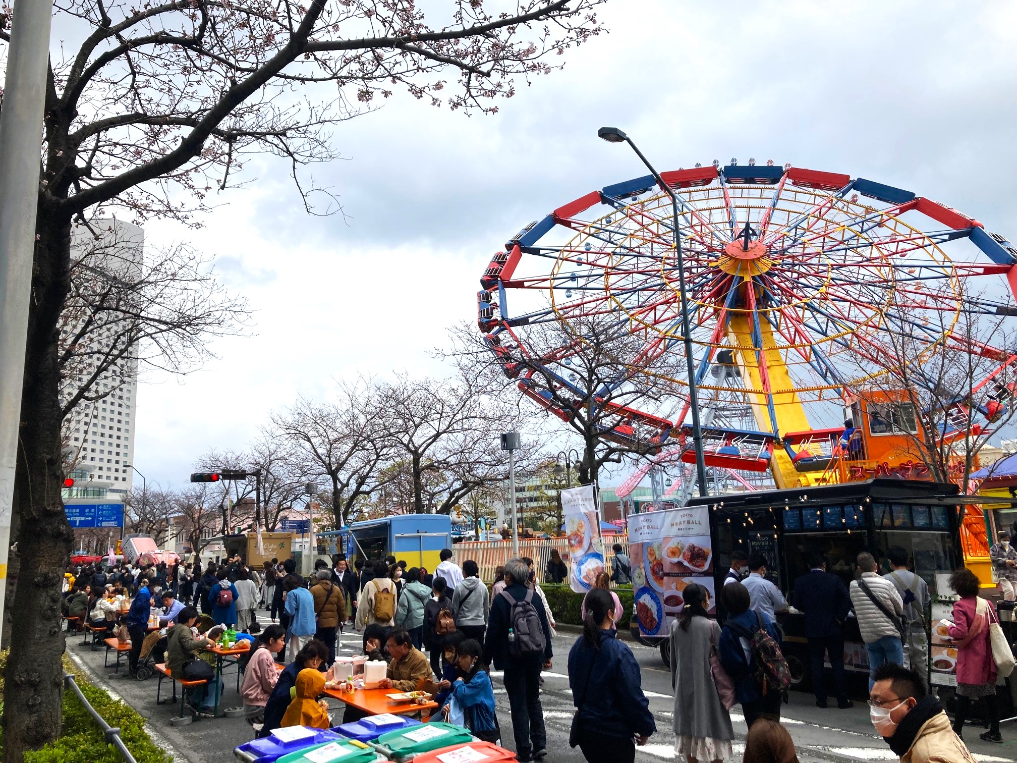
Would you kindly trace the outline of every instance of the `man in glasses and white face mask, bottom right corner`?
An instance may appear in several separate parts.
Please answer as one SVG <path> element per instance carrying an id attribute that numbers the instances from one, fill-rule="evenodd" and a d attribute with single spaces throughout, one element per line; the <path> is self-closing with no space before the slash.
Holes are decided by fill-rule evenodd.
<path id="1" fill-rule="evenodd" d="M 914 670 L 884 662 L 873 670 L 869 716 L 901 763 L 973 763 L 940 701 Z"/>

